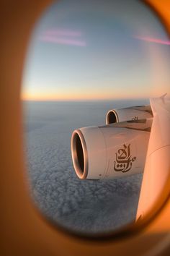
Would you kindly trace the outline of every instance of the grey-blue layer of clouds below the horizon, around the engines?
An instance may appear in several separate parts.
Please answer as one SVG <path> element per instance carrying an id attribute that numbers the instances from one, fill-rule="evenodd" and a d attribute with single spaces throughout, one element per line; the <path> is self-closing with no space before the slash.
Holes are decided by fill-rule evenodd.
<path id="1" fill-rule="evenodd" d="M 42 213 L 69 229 L 91 233 L 114 230 L 133 221 L 142 174 L 81 181 L 71 161 L 73 130 L 104 124 L 105 114 L 114 107 L 113 103 L 25 104 L 30 191 Z M 130 103 L 115 103 L 118 107 L 125 104 Z"/>

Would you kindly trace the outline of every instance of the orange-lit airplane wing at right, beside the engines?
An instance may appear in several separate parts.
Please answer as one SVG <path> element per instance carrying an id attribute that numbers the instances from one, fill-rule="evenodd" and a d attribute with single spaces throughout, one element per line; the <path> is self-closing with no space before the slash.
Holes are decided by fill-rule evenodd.
<path id="1" fill-rule="evenodd" d="M 140 190 L 136 221 L 146 216 L 170 179 L 170 101 L 151 98 L 153 124 Z"/>

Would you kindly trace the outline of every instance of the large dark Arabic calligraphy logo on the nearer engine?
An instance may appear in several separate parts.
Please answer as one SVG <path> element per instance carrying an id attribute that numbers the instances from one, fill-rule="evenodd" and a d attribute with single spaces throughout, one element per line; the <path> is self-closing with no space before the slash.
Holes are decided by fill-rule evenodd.
<path id="1" fill-rule="evenodd" d="M 132 158 L 132 155 L 130 155 L 130 144 L 128 146 L 124 144 L 123 147 L 116 153 L 116 161 L 114 161 L 115 171 L 130 171 L 136 159 L 136 157 Z"/>

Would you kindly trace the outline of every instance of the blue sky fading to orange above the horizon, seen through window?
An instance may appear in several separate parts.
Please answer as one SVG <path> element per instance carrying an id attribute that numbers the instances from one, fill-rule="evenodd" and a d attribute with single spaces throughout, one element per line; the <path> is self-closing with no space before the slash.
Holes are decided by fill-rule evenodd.
<path id="1" fill-rule="evenodd" d="M 170 40 L 138 0 L 63 0 L 37 21 L 21 98 L 84 101 L 169 92 Z"/>

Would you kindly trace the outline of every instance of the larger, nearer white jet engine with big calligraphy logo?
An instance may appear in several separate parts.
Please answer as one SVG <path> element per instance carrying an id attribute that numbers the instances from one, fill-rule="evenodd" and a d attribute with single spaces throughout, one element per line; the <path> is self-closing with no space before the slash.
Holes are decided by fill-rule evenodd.
<path id="1" fill-rule="evenodd" d="M 143 171 L 152 119 L 76 129 L 71 137 L 79 179 L 110 179 Z"/>

